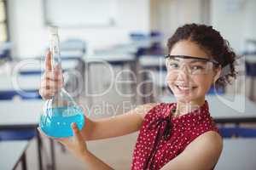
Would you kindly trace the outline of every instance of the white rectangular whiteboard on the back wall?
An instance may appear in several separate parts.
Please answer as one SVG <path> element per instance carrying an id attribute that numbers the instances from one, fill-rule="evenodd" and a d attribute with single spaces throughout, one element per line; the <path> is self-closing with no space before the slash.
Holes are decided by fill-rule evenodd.
<path id="1" fill-rule="evenodd" d="M 45 0 L 46 24 L 69 26 L 113 26 L 116 0 Z"/>

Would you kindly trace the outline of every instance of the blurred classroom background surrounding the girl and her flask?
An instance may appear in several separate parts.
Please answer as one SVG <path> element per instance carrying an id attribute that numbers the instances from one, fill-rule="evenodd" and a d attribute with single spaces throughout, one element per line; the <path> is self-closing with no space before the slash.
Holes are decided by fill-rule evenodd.
<path id="1" fill-rule="evenodd" d="M 99 119 L 174 101 L 166 42 L 178 26 L 197 23 L 220 31 L 240 56 L 236 80 L 207 94 L 224 137 L 215 169 L 255 170 L 255 16 L 254 0 L 0 0 L 0 169 L 84 169 L 37 132 L 49 26 L 59 28 L 65 89 Z M 115 169 L 130 169 L 137 134 L 88 148 Z"/>

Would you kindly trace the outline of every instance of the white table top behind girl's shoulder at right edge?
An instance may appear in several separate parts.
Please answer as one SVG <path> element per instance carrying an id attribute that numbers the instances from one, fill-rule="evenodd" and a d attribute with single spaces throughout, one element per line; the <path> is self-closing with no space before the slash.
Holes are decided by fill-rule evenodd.
<path id="1" fill-rule="evenodd" d="M 256 118 L 256 105 L 241 94 L 207 95 L 209 111 L 214 119 Z M 174 96 L 164 96 L 160 102 L 176 102 Z"/>

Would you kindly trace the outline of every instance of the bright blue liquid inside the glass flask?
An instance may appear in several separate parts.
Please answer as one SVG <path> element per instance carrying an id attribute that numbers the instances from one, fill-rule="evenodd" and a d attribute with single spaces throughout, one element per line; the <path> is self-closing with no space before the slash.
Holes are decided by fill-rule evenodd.
<path id="1" fill-rule="evenodd" d="M 84 113 L 79 106 L 63 106 L 47 109 L 40 117 L 40 128 L 45 134 L 55 138 L 73 136 L 71 124 L 77 123 L 79 130 L 84 127 Z"/>

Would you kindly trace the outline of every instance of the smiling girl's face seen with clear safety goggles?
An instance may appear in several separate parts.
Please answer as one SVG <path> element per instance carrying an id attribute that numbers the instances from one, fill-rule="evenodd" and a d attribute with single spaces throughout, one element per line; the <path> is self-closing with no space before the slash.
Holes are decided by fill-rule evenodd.
<path id="1" fill-rule="evenodd" d="M 182 55 L 196 58 L 209 59 L 208 54 L 195 42 L 177 42 L 170 55 Z M 217 72 L 213 64 L 200 59 L 167 58 L 167 83 L 172 89 L 177 101 L 188 103 L 201 103 L 205 94 L 211 88 Z M 216 80 L 216 79 L 215 79 Z"/>

